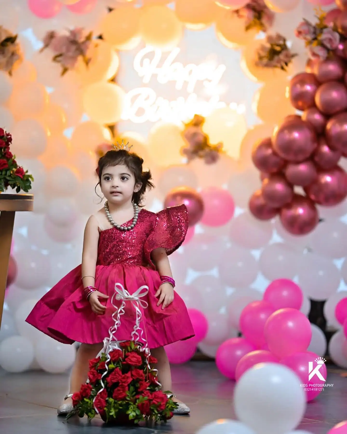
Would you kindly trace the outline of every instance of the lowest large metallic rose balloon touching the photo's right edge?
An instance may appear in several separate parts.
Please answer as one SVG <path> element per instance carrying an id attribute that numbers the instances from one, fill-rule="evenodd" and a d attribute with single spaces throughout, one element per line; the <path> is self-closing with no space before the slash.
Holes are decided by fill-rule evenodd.
<path id="1" fill-rule="evenodd" d="M 304 190 L 316 204 L 333 207 L 347 197 L 347 174 L 339 166 L 318 171 L 316 181 Z"/>

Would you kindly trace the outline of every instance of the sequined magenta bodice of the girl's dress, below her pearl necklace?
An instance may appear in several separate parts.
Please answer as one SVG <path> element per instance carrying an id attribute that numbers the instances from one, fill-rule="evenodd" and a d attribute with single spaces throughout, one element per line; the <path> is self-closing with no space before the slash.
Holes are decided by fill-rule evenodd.
<path id="1" fill-rule="evenodd" d="M 124 226 L 127 226 L 129 222 L 124 223 Z M 111 228 L 101 231 L 97 265 L 148 266 L 148 261 L 144 255 L 144 244 L 155 225 L 156 214 L 142 209 L 133 229 L 121 231 L 117 228 Z"/>

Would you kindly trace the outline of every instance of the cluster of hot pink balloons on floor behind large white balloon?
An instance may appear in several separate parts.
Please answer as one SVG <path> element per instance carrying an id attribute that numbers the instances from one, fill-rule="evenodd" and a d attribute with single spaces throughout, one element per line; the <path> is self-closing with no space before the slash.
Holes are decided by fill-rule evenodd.
<path id="1" fill-rule="evenodd" d="M 220 345 L 216 353 L 219 371 L 238 381 L 257 363 L 279 363 L 295 372 L 302 383 L 308 384 L 305 388 L 307 401 L 318 396 L 324 387 L 327 370 L 320 362 L 323 359 L 308 351 L 312 330 L 308 318 L 299 311 L 302 302 L 303 294 L 296 283 L 287 279 L 273 281 L 262 300 L 250 302 L 242 310 L 239 319 L 242 337 Z M 312 365 L 321 363 L 323 379 L 316 376 L 309 379 L 309 362 Z"/>

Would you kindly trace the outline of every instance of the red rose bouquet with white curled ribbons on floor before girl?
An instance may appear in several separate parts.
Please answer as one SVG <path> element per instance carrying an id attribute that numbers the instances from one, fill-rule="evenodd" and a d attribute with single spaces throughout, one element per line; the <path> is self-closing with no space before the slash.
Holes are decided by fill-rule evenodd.
<path id="1" fill-rule="evenodd" d="M 157 371 L 150 368 L 155 363 L 134 341 L 121 342 L 108 357 L 102 354 L 90 360 L 89 382 L 72 396 L 74 410 L 67 417 L 92 419 L 99 413 L 105 422 L 166 422 L 177 404 L 167 398 L 171 392 L 159 390 Z"/>

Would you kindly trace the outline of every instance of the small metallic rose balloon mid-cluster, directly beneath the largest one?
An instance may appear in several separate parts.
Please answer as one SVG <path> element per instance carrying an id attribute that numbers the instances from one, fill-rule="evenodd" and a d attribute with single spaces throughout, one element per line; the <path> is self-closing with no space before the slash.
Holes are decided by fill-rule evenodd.
<path id="1" fill-rule="evenodd" d="M 293 198 L 293 187 L 283 175 L 275 174 L 264 179 L 262 194 L 270 207 L 281 208 Z"/>

